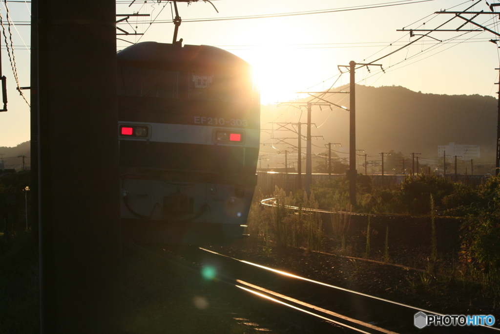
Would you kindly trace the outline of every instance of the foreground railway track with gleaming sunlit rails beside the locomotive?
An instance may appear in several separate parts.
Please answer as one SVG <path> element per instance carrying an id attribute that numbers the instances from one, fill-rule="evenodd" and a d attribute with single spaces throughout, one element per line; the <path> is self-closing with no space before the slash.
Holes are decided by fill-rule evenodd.
<path id="1" fill-rule="evenodd" d="M 191 249 L 176 257 L 155 250 L 205 279 L 239 293 L 241 303 L 308 332 L 340 333 L 500 333 L 497 328 L 424 327 L 413 324 L 415 313 L 441 315 L 401 303 L 291 275 L 207 249 Z M 188 264 L 187 264 L 188 263 Z"/>

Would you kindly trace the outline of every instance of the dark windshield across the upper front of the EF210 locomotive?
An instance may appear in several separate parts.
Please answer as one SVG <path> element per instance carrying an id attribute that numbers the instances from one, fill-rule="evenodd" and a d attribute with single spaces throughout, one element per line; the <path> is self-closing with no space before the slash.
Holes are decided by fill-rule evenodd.
<path id="1" fill-rule="evenodd" d="M 180 72 L 137 67 L 118 69 L 118 95 L 221 102 L 249 101 L 248 80 L 228 73 Z"/>

